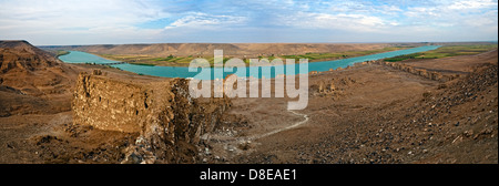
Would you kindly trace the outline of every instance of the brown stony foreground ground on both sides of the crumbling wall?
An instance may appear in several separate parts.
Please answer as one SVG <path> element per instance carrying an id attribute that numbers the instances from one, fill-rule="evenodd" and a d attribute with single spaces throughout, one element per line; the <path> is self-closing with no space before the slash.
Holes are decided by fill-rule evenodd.
<path id="1" fill-rule="evenodd" d="M 407 64 L 464 75 L 442 83 L 370 64 L 310 75 L 302 111 L 287 111 L 287 99 L 235 99 L 204 136 L 198 163 L 498 163 L 497 80 L 489 79 L 497 78 L 497 51 L 448 58 L 445 66 Z M 468 75 L 473 71 L 479 75 Z M 322 82 L 334 82 L 334 91 L 318 91 Z M 120 163 L 138 136 L 72 125 L 71 94 L 52 102 L 0 93 L 4 104 L 22 100 L 0 116 L 0 163 Z"/>

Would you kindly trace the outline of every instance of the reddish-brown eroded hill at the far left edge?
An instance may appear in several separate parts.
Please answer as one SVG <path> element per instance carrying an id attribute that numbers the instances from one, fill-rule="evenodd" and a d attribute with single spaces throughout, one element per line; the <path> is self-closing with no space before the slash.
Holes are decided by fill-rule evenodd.
<path id="1" fill-rule="evenodd" d="M 0 66 L 1 85 L 35 96 L 69 93 L 78 75 L 27 41 L 0 41 Z"/>

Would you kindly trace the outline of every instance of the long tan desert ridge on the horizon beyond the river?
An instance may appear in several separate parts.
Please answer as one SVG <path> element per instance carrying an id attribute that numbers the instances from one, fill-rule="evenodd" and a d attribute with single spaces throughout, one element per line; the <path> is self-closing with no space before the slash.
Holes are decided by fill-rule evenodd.
<path id="1" fill-rule="evenodd" d="M 377 50 L 405 43 L 155 43 L 155 44 L 98 44 L 41 46 L 45 50 L 77 50 L 94 54 L 150 55 L 150 56 L 213 56 L 223 50 L 226 56 L 255 58 L 258 55 L 293 55 L 344 51 Z M 421 45 L 421 43 L 411 43 Z"/>

